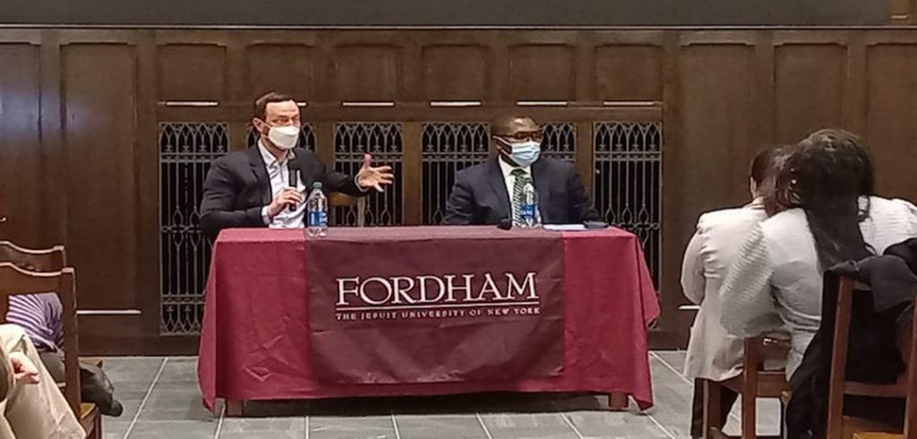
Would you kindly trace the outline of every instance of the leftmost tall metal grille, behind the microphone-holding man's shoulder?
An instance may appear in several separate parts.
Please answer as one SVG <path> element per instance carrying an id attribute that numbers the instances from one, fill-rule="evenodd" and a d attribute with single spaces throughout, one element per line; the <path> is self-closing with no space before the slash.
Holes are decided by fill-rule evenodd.
<path id="1" fill-rule="evenodd" d="M 161 321 L 165 335 L 198 334 L 210 243 L 199 226 L 210 163 L 229 149 L 225 123 L 163 122 L 160 131 Z"/>

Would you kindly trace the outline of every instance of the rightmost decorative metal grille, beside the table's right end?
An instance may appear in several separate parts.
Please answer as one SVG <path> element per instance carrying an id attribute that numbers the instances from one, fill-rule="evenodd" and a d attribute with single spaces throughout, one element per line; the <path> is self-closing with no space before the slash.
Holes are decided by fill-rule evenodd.
<path id="1" fill-rule="evenodd" d="M 593 196 L 605 221 L 640 237 L 659 285 L 662 242 L 662 126 L 596 122 Z"/>

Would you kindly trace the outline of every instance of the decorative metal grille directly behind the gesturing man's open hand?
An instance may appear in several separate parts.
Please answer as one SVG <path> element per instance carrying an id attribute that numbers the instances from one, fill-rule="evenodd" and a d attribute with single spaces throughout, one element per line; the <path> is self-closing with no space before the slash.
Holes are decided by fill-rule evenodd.
<path id="1" fill-rule="evenodd" d="M 372 192 L 366 201 L 366 225 L 403 224 L 403 128 L 399 123 L 346 122 L 335 124 L 335 170 L 356 175 L 363 154 L 374 166 L 388 165 L 395 175 L 385 192 Z M 357 225 L 357 207 L 336 207 L 332 225 Z"/>

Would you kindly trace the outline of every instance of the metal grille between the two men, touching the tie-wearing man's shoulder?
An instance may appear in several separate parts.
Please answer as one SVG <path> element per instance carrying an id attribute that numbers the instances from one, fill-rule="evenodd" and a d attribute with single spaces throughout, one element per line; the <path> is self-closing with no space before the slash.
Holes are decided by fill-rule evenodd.
<path id="1" fill-rule="evenodd" d="M 442 224 L 446 201 L 459 170 L 487 161 L 490 133 L 483 123 L 424 124 L 421 136 L 424 172 L 424 224 Z"/>

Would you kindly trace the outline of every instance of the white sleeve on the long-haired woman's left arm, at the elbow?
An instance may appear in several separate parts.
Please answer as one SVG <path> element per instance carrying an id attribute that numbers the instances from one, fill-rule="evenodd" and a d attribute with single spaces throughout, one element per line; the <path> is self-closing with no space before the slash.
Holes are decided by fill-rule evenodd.
<path id="1" fill-rule="evenodd" d="M 779 327 L 779 315 L 771 291 L 773 265 L 761 225 L 752 229 L 739 256 L 729 269 L 720 300 L 720 322 L 732 335 L 756 336 Z"/>

